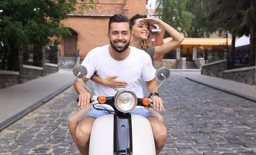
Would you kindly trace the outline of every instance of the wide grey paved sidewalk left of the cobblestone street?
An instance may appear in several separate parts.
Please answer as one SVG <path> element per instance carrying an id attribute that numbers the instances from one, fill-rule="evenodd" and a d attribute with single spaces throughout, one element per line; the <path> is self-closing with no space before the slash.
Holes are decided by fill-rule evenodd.
<path id="1" fill-rule="evenodd" d="M 72 69 L 0 89 L 0 131 L 73 84 Z"/>

